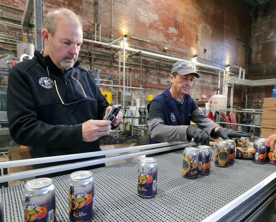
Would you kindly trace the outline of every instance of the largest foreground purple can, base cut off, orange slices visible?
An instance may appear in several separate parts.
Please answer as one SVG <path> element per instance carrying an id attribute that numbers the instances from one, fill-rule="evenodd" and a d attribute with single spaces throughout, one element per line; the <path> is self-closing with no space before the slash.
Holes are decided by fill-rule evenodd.
<path id="1" fill-rule="evenodd" d="M 50 178 L 37 178 L 23 190 L 25 221 L 56 221 L 55 185 Z"/>

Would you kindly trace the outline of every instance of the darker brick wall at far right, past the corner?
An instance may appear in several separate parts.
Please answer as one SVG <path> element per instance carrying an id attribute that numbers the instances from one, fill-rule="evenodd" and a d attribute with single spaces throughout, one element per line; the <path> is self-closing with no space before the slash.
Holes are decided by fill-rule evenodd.
<path id="1" fill-rule="evenodd" d="M 276 78 L 276 1 L 256 8 L 250 38 L 251 64 L 247 78 Z M 262 108 L 263 98 L 271 97 L 273 86 L 249 87 L 249 108 Z"/>

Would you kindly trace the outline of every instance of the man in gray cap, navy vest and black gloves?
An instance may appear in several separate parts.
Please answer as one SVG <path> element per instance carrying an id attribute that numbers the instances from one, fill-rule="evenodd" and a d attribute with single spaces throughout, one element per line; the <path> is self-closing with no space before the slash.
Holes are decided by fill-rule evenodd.
<path id="1" fill-rule="evenodd" d="M 147 106 L 150 137 L 148 144 L 159 142 L 194 142 L 209 145 L 209 137 L 223 139 L 250 137 L 247 133 L 226 129 L 214 123 L 199 109 L 188 94 L 194 77 L 199 78 L 194 64 L 177 61 L 170 74 L 171 86 L 156 96 Z M 200 128 L 190 126 L 193 121 Z"/>

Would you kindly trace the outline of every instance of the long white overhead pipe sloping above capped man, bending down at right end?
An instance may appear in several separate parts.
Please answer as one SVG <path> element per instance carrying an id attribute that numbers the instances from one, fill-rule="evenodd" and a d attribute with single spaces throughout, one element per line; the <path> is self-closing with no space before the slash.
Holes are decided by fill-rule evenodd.
<path id="1" fill-rule="evenodd" d="M 99 45 L 110 46 L 110 47 L 115 48 L 115 49 L 121 49 L 122 48 L 120 45 L 114 45 L 113 44 L 116 40 L 113 41 L 112 43 L 104 43 L 104 42 L 99 42 L 99 41 L 90 40 L 90 39 L 85 38 L 85 39 L 83 39 L 83 41 L 90 42 L 90 43 L 95 43 L 95 44 L 99 44 Z M 123 45 L 124 45 L 124 43 L 123 43 Z M 203 64 L 203 63 L 199 63 L 199 62 L 193 62 L 193 61 L 189 61 L 189 60 L 186 60 L 186 59 L 180 59 L 180 58 L 172 57 L 172 56 L 168 56 L 168 55 L 162 55 L 162 54 L 159 54 L 159 53 L 144 51 L 144 50 L 140 50 L 140 49 L 134 49 L 134 48 L 130 48 L 130 47 L 124 47 L 124 50 L 131 51 L 131 52 L 141 52 L 144 55 L 160 57 L 160 58 L 163 58 L 163 59 L 169 59 L 169 60 L 173 60 L 173 61 L 185 61 L 185 62 L 193 63 L 193 64 L 198 65 L 200 67 L 206 67 L 206 68 L 210 68 L 210 69 L 213 69 L 213 70 L 223 71 L 223 84 L 225 85 L 225 70 L 220 68 L 220 67 L 216 67 L 216 66 L 213 66 L 213 65 L 207 65 L 207 64 Z M 224 88 L 223 88 L 223 93 L 224 93 Z"/>

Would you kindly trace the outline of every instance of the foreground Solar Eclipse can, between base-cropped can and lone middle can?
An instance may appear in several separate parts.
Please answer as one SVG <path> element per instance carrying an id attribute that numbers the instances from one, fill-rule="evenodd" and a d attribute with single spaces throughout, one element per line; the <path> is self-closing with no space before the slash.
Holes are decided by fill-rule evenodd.
<path id="1" fill-rule="evenodd" d="M 95 185 L 92 173 L 80 170 L 68 180 L 68 213 L 71 222 L 92 221 L 95 212 Z"/>

